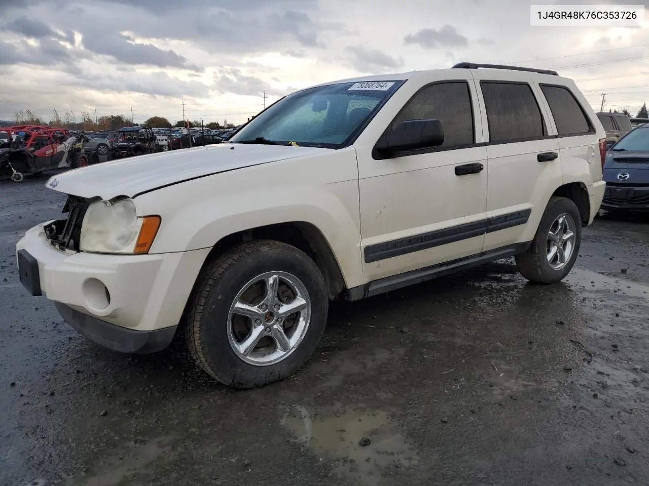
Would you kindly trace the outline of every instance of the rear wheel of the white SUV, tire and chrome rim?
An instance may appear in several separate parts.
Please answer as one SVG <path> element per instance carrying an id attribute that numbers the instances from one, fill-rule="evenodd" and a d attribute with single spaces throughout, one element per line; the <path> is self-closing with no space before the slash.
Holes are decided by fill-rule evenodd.
<path id="1" fill-rule="evenodd" d="M 525 253 L 516 256 L 522 275 L 541 284 L 557 283 L 568 275 L 582 243 L 582 217 L 568 198 L 552 197 Z"/>

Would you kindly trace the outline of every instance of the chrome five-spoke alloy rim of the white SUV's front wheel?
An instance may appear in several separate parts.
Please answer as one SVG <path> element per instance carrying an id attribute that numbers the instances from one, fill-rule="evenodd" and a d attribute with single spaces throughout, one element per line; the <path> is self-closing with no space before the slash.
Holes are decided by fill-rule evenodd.
<path id="1" fill-rule="evenodd" d="M 228 341 L 248 364 L 275 364 L 297 349 L 310 320 L 311 301 L 300 279 L 263 273 L 245 284 L 230 306 Z"/>

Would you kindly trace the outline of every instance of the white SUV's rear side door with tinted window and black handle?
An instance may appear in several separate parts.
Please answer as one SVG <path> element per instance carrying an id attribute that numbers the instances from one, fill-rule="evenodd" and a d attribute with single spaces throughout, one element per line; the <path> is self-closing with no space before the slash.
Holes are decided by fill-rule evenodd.
<path id="1" fill-rule="evenodd" d="M 561 185 L 561 163 L 556 133 L 529 73 L 478 69 L 474 77 L 489 159 L 489 251 L 532 239 L 550 194 Z"/>

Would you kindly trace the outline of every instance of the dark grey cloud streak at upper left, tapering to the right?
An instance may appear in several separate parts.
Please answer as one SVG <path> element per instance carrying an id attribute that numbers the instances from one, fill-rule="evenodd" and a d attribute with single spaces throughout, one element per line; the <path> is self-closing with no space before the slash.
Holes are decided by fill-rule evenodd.
<path id="1" fill-rule="evenodd" d="M 83 45 L 96 54 L 112 56 L 125 64 L 144 64 L 156 67 L 177 67 L 201 72 L 204 68 L 190 64 L 184 56 L 169 49 L 164 51 L 153 44 L 141 44 L 130 36 L 109 34 L 108 36 L 84 36 Z"/>

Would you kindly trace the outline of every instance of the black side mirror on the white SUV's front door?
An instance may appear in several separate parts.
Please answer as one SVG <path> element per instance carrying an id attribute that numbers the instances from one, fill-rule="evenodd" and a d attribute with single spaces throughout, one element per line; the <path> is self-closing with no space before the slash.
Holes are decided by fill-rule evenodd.
<path id="1" fill-rule="evenodd" d="M 393 156 L 396 152 L 432 148 L 443 143 L 444 130 L 439 120 L 408 120 L 378 139 L 375 148 L 383 156 Z"/>

